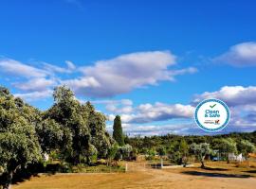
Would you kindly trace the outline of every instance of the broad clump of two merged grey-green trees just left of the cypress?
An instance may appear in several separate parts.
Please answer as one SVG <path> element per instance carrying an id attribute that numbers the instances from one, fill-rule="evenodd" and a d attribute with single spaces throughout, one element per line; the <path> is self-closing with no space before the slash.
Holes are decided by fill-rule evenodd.
<path id="1" fill-rule="evenodd" d="M 44 119 L 52 122 L 48 123 L 52 129 L 61 128 L 58 136 L 62 134 L 60 151 L 65 161 L 77 164 L 81 157 L 85 157 L 87 163 L 91 162 L 91 156 L 105 158 L 113 144 L 105 129 L 105 115 L 96 112 L 89 102 L 80 103 L 65 86 L 57 87 L 53 97 L 54 105 Z"/>

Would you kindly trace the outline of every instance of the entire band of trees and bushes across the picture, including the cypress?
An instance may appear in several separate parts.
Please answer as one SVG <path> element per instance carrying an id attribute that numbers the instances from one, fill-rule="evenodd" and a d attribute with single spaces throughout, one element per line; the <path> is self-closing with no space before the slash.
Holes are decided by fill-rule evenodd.
<path id="1" fill-rule="evenodd" d="M 124 137 L 119 115 L 112 138 L 106 130 L 106 116 L 90 102 L 82 104 L 65 86 L 57 87 L 53 97 L 54 104 L 41 112 L 0 87 L 0 185 L 5 189 L 17 172 L 90 172 L 110 167 L 123 171 L 117 162 L 136 160 L 138 154 L 146 160 L 160 157 L 184 166 L 195 157 L 204 168 L 205 159 L 216 152 L 229 163 L 229 153 L 242 153 L 247 158 L 256 151 L 256 131 Z"/>

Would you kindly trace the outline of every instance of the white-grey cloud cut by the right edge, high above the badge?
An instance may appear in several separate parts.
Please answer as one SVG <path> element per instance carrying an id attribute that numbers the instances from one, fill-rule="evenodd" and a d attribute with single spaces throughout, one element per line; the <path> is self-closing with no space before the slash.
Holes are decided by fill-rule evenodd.
<path id="1" fill-rule="evenodd" d="M 215 58 L 213 61 L 228 63 L 234 66 L 256 66 L 256 43 L 238 43 L 229 51 Z"/>

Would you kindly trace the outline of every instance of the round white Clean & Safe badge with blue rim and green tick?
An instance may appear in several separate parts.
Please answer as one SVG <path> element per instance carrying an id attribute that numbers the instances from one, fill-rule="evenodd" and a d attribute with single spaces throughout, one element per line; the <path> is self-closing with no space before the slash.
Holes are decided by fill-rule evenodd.
<path id="1" fill-rule="evenodd" d="M 229 107 L 219 99 L 206 99 L 200 102 L 194 112 L 197 126 L 210 132 L 224 129 L 229 119 Z"/>

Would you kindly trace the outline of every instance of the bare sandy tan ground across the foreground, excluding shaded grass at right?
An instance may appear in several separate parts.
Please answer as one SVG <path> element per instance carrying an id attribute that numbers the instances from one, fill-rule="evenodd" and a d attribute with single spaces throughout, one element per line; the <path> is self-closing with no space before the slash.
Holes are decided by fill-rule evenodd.
<path id="1" fill-rule="evenodd" d="M 186 170 L 186 169 L 185 169 Z M 55 175 L 32 178 L 13 189 L 254 189 L 255 178 L 232 178 L 186 175 L 172 170 L 145 169 L 137 164 L 137 171 L 117 174 Z"/>

